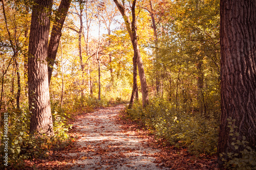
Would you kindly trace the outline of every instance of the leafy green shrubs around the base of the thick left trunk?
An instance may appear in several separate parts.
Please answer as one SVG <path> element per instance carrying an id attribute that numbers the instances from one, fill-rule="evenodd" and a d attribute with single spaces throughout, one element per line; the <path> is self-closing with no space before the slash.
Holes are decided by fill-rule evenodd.
<path id="1" fill-rule="evenodd" d="M 58 110 L 53 105 L 52 110 Z M 2 113 L 3 116 L 3 113 Z M 53 148 L 67 145 L 72 139 L 68 135 L 68 115 L 55 111 L 53 113 L 53 129 L 55 136 L 37 135 L 29 133 L 30 115 L 28 109 L 8 111 L 8 167 L 22 168 L 25 159 L 46 158 Z M 3 132 L 3 124 L 1 124 Z M 4 133 L 1 134 L 0 161 L 4 161 Z M 0 169 L 5 165 L 1 163 Z"/>

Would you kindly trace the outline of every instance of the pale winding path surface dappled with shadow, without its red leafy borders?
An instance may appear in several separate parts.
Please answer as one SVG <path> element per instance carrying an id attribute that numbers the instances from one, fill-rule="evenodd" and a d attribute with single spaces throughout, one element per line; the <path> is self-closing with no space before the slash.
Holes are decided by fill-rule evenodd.
<path id="1" fill-rule="evenodd" d="M 82 137 L 77 141 L 80 152 L 68 153 L 76 156 L 71 169 L 166 169 L 158 167 L 153 155 L 159 152 L 145 148 L 131 130 L 123 130 L 114 120 L 123 105 L 103 108 L 79 116 L 74 123 L 76 133 Z"/>

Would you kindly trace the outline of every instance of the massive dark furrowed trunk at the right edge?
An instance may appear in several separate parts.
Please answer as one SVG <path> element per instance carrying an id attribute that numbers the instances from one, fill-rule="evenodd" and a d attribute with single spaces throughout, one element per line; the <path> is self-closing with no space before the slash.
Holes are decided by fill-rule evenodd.
<path id="1" fill-rule="evenodd" d="M 221 0 L 221 126 L 218 154 L 239 153 L 230 144 L 227 118 L 235 119 L 238 139 L 256 144 L 256 1 Z M 222 167 L 221 157 L 218 159 Z"/>

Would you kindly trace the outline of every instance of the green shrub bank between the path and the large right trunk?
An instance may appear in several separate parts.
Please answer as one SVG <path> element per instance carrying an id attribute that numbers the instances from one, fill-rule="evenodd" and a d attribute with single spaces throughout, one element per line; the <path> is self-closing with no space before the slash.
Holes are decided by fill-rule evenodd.
<path id="1" fill-rule="evenodd" d="M 132 119 L 141 120 L 157 138 L 165 138 L 176 147 L 187 147 L 194 154 L 217 152 L 219 124 L 215 119 L 176 111 L 175 105 L 157 98 L 145 108 L 135 102 L 127 113 Z"/>

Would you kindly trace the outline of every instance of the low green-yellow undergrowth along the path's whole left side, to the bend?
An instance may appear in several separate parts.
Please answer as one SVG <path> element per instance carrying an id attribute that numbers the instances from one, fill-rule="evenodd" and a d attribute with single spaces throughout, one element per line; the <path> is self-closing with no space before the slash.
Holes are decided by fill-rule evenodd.
<path id="1" fill-rule="evenodd" d="M 53 117 L 54 136 L 31 134 L 30 112 L 24 104 L 20 109 L 9 107 L 8 113 L 8 169 L 24 168 L 26 162 L 49 161 L 51 155 L 56 152 L 69 150 L 74 145 L 77 136 L 72 135 L 72 122 L 75 116 L 89 113 L 100 107 L 110 107 L 125 103 L 121 99 L 115 101 L 97 100 L 95 98 L 73 99 L 63 107 L 58 101 L 51 101 Z M 3 114 L 3 113 L 2 113 Z M 4 119 L 2 121 L 3 125 Z M 4 132 L 4 126 L 1 127 Z M 2 133 L 2 144 L 0 147 L 0 161 L 4 162 L 5 144 L 3 144 L 4 133 Z M 32 163 L 33 164 L 33 163 Z M 1 163 L 0 169 L 7 166 Z"/>

